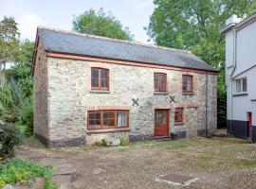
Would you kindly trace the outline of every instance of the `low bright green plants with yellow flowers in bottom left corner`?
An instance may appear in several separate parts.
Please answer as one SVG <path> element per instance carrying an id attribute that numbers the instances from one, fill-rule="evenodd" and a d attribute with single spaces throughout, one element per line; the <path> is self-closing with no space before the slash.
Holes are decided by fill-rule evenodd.
<path id="1" fill-rule="evenodd" d="M 46 178 L 46 189 L 55 187 L 51 182 L 52 168 L 37 165 L 25 160 L 13 159 L 0 164 L 0 188 L 5 184 L 31 184 L 38 177 Z"/>

